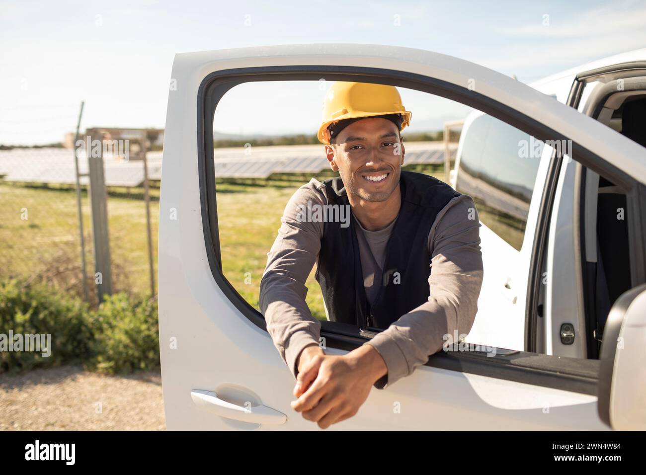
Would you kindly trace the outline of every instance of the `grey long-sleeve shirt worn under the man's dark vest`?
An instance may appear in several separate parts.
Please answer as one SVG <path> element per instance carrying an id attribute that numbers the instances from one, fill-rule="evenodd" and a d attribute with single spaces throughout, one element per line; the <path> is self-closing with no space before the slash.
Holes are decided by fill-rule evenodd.
<path id="1" fill-rule="evenodd" d="M 318 345 L 320 322 L 307 307 L 305 282 L 318 259 L 324 222 L 298 220 L 300 206 L 328 203 L 325 185 L 312 178 L 290 198 L 281 218 L 278 236 L 267 253 L 260 283 L 260 310 L 267 331 L 293 375 L 306 346 Z M 359 224 L 355 220 L 356 224 Z M 379 231 L 357 229 L 366 297 L 371 301 L 380 282 L 386 244 L 394 221 Z M 382 389 L 409 375 L 439 351 L 444 335 L 468 333 L 475 319 L 483 279 L 475 204 L 467 195 L 453 198 L 435 218 L 428 234 L 428 301 L 378 333 L 370 344 L 386 362 L 388 374 L 375 387 Z"/>

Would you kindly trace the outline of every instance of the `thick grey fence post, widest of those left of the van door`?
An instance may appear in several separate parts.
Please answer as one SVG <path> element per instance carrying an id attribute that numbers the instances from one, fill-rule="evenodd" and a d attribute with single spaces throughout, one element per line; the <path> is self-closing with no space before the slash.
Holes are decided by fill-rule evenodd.
<path id="1" fill-rule="evenodd" d="M 88 134 L 89 135 L 89 134 Z M 91 137 L 90 137 L 91 140 Z M 91 143 L 89 150 L 92 150 Z M 110 271 L 110 238 L 108 233 L 107 193 L 105 191 L 105 171 L 103 169 L 103 146 L 98 157 L 88 157 L 90 176 L 90 204 L 92 206 L 92 234 L 94 235 L 94 281 L 99 304 L 104 295 L 112 293 L 112 273 Z"/>

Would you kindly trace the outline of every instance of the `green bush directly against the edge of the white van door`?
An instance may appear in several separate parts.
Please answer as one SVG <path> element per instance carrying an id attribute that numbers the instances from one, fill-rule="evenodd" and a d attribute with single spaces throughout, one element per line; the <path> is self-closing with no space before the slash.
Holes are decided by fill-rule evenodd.
<path id="1" fill-rule="evenodd" d="M 92 359 L 103 373 L 130 373 L 160 365 L 157 303 L 132 301 L 125 293 L 109 296 L 92 312 Z"/>

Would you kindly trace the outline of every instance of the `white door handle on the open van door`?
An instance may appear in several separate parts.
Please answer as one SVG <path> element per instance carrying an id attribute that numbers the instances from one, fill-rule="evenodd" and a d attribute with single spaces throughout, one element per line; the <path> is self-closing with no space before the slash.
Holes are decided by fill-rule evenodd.
<path id="1" fill-rule="evenodd" d="M 191 399 L 198 408 L 217 414 L 227 419 L 250 422 L 253 424 L 279 425 L 287 421 L 287 416 L 269 406 L 251 406 L 246 408 L 220 399 L 214 391 L 194 389 Z"/>

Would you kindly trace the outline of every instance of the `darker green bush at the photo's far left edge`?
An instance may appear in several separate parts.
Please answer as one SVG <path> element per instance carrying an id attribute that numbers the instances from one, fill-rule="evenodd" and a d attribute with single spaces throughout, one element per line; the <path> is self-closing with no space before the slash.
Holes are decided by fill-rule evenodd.
<path id="1" fill-rule="evenodd" d="M 0 333 L 5 339 L 10 330 L 14 335 L 51 335 L 48 357 L 42 352 L 0 351 L 0 373 L 86 361 L 94 337 L 88 314 L 85 302 L 43 284 L 0 282 Z"/>

